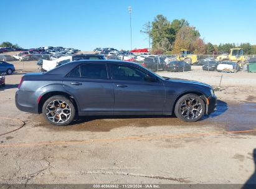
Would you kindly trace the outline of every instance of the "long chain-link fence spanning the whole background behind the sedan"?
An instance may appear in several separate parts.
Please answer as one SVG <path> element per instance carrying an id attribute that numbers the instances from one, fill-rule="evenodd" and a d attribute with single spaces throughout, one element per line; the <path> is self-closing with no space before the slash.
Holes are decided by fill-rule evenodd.
<path id="1" fill-rule="evenodd" d="M 77 55 L 77 54 L 75 54 Z M 72 54 L 35 54 L 35 53 L 16 53 L 14 55 L 0 54 L 0 60 L 4 61 L 36 61 L 39 66 L 39 71 L 44 71 L 42 69 L 43 60 L 57 61 L 58 63 L 67 63 L 72 61 Z M 192 66 L 202 66 L 202 70 L 205 71 L 247 71 L 248 63 L 256 63 L 256 55 L 240 55 L 232 56 L 228 54 L 223 55 L 121 55 L 116 53 L 116 55 L 104 55 L 107 60 L 123 60 L 140 63 L 146 68 L 153 71 L 190 71 Z M 83 58 L 82 58 L 83 59 Z M 87 59 L 87 58 L 85 58 Z M 88 58 L 97 59 L 95 57 Z M 75 59 L 77 60 L 77 59 Z M 58 64 L 57 64 L 58 65 Z M 60 63 L 59 63 L 60 65 Z"/>

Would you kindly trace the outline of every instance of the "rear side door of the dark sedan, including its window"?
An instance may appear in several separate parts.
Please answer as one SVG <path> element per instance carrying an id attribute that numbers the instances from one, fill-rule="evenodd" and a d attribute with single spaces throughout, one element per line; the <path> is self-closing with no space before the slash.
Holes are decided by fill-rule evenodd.
<path id="1" fill-rule="evenodd" d="M 105 63 L 83 63 L 64 78 L 64 88 L 78 101 L 84 115 L 113 114 L 113 83 Z"/>

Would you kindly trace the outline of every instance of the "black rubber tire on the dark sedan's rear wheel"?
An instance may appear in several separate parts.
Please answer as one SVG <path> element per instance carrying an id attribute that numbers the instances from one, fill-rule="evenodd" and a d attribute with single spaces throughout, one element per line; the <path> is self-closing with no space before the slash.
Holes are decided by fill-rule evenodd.
<path id="1" fill-rule="evenodd" d="M 65 104 L 67 104 L 65 106 L 65 108 L 69 108 L 70 111 L 67 111 L 65 110 L 64 112 L 64 109 L 61 108 L 61 106 L 59 106 L 59 109 L 54 106 L 52 106 L 52 111 L 54 111 L 53 114 L 57 114 L 56 111 L 60 111 L 61 113 L 57 114 L 54 118 L 52 117 L 53 121 L 50 120 L 50 118 L 47 117 L 47 107 L 51 107 L 50 103 L 52 102 L 55 102 L 55 101 L 62 101 L 64 102 Z M 60 104 L 60 103 L 59 103 Z M 64 114 L 70 114 L 70 116 L 64 116 Z M 49 113 L 48 113 L 49 114 Z M 68 124 L 70 124 L 70 122 L 73 121 L 73 119 L 75 118 L 75 114 L 76 114 L 76 111 L 75 111 L 75 106 L 73 105 L 72 101 L 69 99 L 69 98 L 66 98 L 65 96 L 62 96 L 62 95 L 56 95 L 56 96 L 52 96 L 50 97 L 49 99 L 47 99 L 45 102 L 44 102 L 44 105 L 42 107 L 42 116 L 44 117 L 44 119 L 49 122 L 50 124 L 54 124 L 55 126 L 67 126 Z M 52 114 L 50 115 L 52 116 Z M 62 117 L 64 116 L 64 118 Z M 57 117 L 57 118 L 56 118 Z M 66 118 L 65 118 L 66 117 Z M 56 121 L 55 121 L 55 118 L 56 118 Z M 64 122 L 57 122 L 58 118 L 61 118 L 61 119 L 66 119 Z"/>

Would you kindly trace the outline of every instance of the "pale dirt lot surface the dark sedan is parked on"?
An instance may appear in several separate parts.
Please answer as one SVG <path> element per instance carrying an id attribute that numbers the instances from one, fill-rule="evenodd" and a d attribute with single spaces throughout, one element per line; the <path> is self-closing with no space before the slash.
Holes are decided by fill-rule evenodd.
<path id="1" fill-rule="evenodd" d="M 223 75 L 218 110 L 199 122 L 89 117 L 56 127 L 16 108 L 23 66 L 13 63 L 0 88 L 1 183 L 256 183 L 256 73 L 159 72 L 213 86 Z M 36 62 L 24 69 L 37 71 Z"/>

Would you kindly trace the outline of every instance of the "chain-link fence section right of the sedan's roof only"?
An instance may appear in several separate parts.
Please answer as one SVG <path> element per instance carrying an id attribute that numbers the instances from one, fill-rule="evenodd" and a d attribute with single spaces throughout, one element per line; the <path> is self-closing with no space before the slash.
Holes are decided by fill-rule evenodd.
<path id="1" fill-rule="evenodd" d="M 113 55 L 107 59 L 137 62 L 153 71 L 190 71 L 191 66 L 202 66 L 205 71 L 237 72 L 247 71 L 256 55 Z"/>

